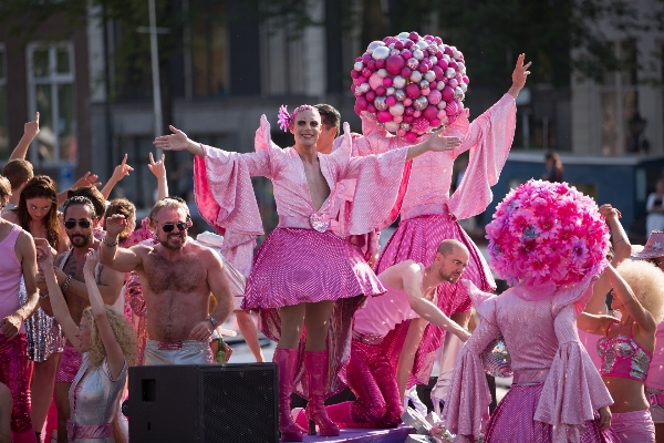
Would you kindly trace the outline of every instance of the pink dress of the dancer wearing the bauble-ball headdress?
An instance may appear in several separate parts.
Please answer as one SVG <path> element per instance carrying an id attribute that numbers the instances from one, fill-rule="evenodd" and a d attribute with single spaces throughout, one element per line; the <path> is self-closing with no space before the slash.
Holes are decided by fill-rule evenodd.
<path id="1" fill-rule="evenodd" d="M 515 99 L 505 94 L 494 106 L 468 123 L 467 111 L 449 125 L 444 135 L 463 137 L 461 145 L 447 153 L 426 153 L 413 159 L 407 190 L 401 206 L 401 223 L 378 258 L 377 274 L 404 260 L 425 265 L 434 260 L 436 248 L 447 238 L 464 243 L 470 251 L 464 278 L 485 291 L 496 289 L 491 271 L 481 253 L 457 219 L 469 218 L 486 209 L 492 199 L 490 186 L 498 176 L 513 140 L 516 126 Z M 407 145 L 401 137 L 380 130 L 373 121 L 363 120 L 364 137 L 353 143 L 354 153 L 388 152 Z M 456 157 L 470 151 L 468 168 L 461 184 L 449 196 L 453 165 Z M 394 214 L 396 216 L 396 214 Z M 468 312 L 470 300 L 459 284 L 444 282 L 438 287 L 438 308 L 447 316 Z M 396 370 L 409 321 L 397 327 L 385 338 L 385 349 Z M 428 383 L 435 351 L 443 344 L 445 331 L 428 324 L 415 357 L 408 388 Z"/>

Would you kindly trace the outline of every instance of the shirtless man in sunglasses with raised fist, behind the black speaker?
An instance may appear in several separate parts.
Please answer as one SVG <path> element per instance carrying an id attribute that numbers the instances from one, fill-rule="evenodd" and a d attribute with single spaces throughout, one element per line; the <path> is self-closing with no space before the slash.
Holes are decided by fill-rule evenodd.
<path id="1" fill-rule="evenodd" d="M 100 261 L 121 272 L 135 270 L 141 279 L 149 340 L 143 364 L 205 364 L 212 357 L 208 341 L 234 307 L 219 256 L 187 241 L 187 207 L 175 199 L 157 202 L 151 213 L 158 245 L 117 247 L 127 220 L 122 214 L 106 218 L 106 238 Z M 210 292 L 217 300 L 211 316 Z"/>

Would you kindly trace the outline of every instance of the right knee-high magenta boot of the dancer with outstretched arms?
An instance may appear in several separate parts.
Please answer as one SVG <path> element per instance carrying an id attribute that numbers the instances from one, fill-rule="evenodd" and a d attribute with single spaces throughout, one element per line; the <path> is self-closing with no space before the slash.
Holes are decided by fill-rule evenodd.
<path id="1" fill-rule="evenodd" d="M 309 384 L 307 419 L 314 421 L 321 436 L 339 435 L 339 426 L 325 411 L 325 379 L 328 377 L 328 351 L 305 352 L 304 367 Z"/>

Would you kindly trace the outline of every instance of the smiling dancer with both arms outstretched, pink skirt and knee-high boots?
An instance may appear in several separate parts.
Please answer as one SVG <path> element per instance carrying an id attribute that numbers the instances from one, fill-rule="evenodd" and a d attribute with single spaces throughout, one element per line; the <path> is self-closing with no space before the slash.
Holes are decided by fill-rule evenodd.
<path id="1" fill-rule="evenodd" d="M 336 185 L 344 178 L 357 179 L 357 205 L 342 222 L 349 224 L 351 235 L 372 231 L 388 218 L 405 162 L 427 151 L 454 150 L 460 140 L 436 133 L 415 146 L 351 158 L 347 124 L 342 147 L 323 155 L 317 153 L 321 117 L 313 106 L 300 106 L 292 114 L 282 107 L 280 121 L 284 131 L 293 133 L 293 147 L 281 150 L 271 143 L 264 116 L 257 131 L 256 153 L 204 146 L 173 126 L 175 134 L 157 137 L 155 145 L 196 154 L 198 208 L 222 234 L 231 231 L 250 241 L 262 234 L 250 177 L 272 181 L 279 226 L 256 255 L 242 309 L 259 310 L 263 333 L 279 341 L 274 361 L 279 364 L 281 435 L 286 441 L 301 441 L 302 431 L 290 415 L 293 385 L 309 398 L 308 418 L 317 422 L 320 434 L 339 434 L 323 401 L 343 388 L 335 375 L 347 361 L 353 312 L 364 296 L 384 292 L 360 253 L 331 231 L 340 223 Z M 303 365 L 298 348 L 307 350 Z"/>

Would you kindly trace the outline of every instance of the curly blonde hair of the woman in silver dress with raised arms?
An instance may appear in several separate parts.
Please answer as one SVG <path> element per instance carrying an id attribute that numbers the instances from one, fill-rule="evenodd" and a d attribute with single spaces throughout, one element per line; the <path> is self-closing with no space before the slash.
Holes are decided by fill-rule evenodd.
<path id="1" fill-rule="evenodd" d="M 96 322 L 94 321 L 92 308 L 85 309 L 83 311 L 83 317 L 87 319 L 91 331 L 87 359 L 90 360 L 90 365 L 92 368 L 96 368 L 104 362 L 104 359 L 106 358 L 106 349 L 104 348 L 104 342 L 102 341 Z M 115 312 L 110 307 L 106 307 L 106 317 L 111 323 L 111 329 L 113 330 L 115 340 L 117 340 L 120 347 L 122 348 L 122 352 L 125 356 L 127 365 L 136 364 L 138 362 L 138 344 L 134 330 L 123 316 Z"/>

